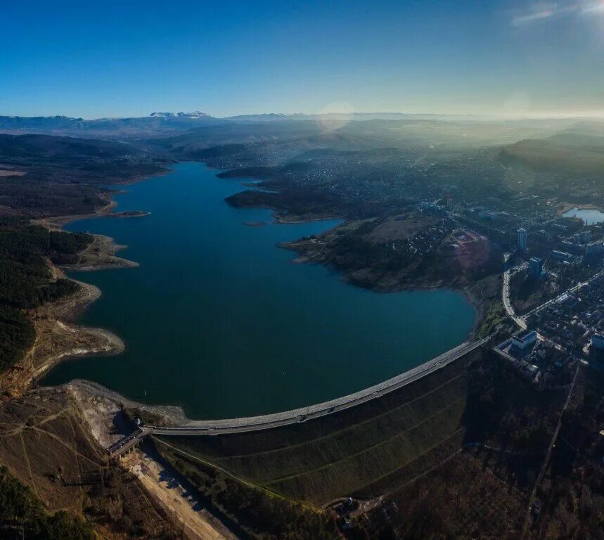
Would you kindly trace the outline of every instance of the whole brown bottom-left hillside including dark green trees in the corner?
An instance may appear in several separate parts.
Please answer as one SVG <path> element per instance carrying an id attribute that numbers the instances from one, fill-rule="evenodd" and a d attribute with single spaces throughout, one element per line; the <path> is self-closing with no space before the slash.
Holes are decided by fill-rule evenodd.
<path id="1" fill-rule="evenodd" d="M 98 538 L 84 518 L 105 539 L 179 536 L 139 480 L 108 463 L 67 389 L 1 401 L 0 424 L 0 463 L 10 470 L 0 468 L 1 539 Z M 3 527 L 11 524 L 14 535 Z"/>

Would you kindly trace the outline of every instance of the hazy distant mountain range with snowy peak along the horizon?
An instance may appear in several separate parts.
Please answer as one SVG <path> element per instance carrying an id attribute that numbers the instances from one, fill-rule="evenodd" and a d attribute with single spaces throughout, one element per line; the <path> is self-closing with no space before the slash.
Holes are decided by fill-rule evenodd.
<path id="1" fill-rule="evenodd" d="M 358 122 L 357 121 L 364 121 Z M 478 115 L 432 115 L 406 113 L 326 113 L 326 114 L 283 114 L 266 113 L 259 115 L 238 115 L 217 118 L 201 111 L 192 113 L 154 112 L 149 116 L 131 118 L 98 118 L 84 120 L 67 116 L 23 117 L 0 116 L 0 132 L 9 134 L 50 134 L 70 135 L 101 139 L 153 139 L 191 135 L 196 130 L 208 134 L 212 140 L 224 143 L 271 139 L 283 134 L 283 131 L 333 131 L 354 122 L 356 128 L 349 125 L 347 131 L 356 132 L 357 128 L 366 131 L 383 129 L 381 122 L 400 122 L 399 126 L 407 131 L 422 127 L 432 130 L 442 127 L 451 129 L 468 129 L 482 132 L 489 126 L 497 129 L 518 131 L 519 139 L 526 136 L 548 136 L 564 129 L 572 129 L 574 134 L 598 135 L 603 131 L 604 122 L 581 119 L 527 119 L 498 120 L 492 116 Z M 522 129 L 527 129 L 523 133 Z M 233 133 L 237 131 L 237 133 Z M 352 130 L 352 131 L 351 131 Z M 249 132 L 249 133 L 248 133 Z M 253 133 L 252 133 L 253 132 Z M 468 133 L 468 136 L 470 133 Z M 465 136 L 465 135 L 464 135 Z M 198 135 L 195 135 L 195 139 Z M 518 139 L 517 139 L 518 140 Z"/>

